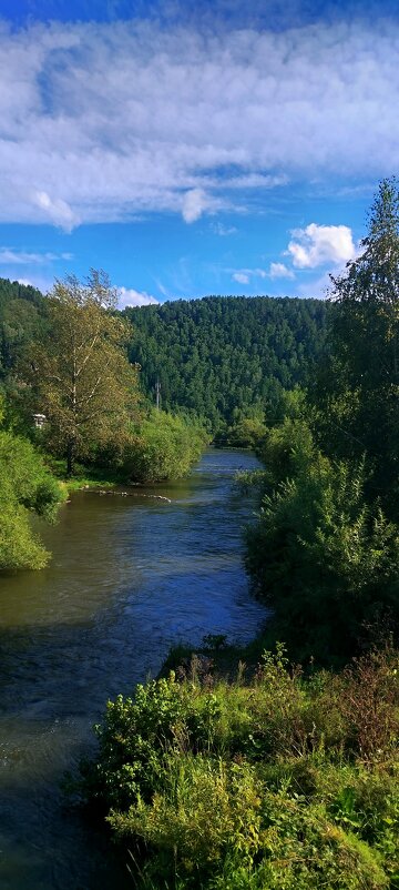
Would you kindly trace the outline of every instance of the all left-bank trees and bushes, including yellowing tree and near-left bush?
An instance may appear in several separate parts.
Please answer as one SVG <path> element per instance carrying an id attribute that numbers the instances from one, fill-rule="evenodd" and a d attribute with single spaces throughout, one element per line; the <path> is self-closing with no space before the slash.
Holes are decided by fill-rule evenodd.
<path id="1" fill-rule="evenodd" d="M 0 287 L 0 570 L 42 568 L 49 554 L 30 513 L 54 520 L 73 487 L 156 482 L 187 473 L 208 441 L 195 418 L 157 412 L 127 360 L 130 326 L 104 273 L 32 287 Z M 33 415 L 44 415 L 42 428 Z"/>

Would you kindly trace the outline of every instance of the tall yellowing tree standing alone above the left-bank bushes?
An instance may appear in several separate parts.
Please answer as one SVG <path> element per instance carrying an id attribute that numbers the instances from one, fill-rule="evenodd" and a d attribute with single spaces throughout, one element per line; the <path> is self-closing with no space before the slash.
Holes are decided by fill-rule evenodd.
<path id="1" fill-rule="evenodd" d="M 38 409 L 48 419 L 51 446 L 66 457 L 93 439 L 116 435 L 137 403 L 137 371 L 126 357 L 127 325 L 113 312 L 116 292 L 108 275 L 91 271 L 85 283 L 57 281 L 48 297 L 50 334 L 30 353 Z"/>

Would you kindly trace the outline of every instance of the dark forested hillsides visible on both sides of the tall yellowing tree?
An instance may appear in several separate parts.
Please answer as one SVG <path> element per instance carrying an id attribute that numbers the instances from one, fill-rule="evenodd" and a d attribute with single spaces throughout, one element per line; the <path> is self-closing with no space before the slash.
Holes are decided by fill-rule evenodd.
<path id="1" fill-rule="evenodd" d="M 262 422 L 282 390 L 309 376 L 323 353 L 327 312 L 316 300 L 212 296 L 112 314 L 129 322 L 129 356 L 151 404 L 158 382 L 164 411 L 197 415 L 222 438 L 234 427 L 227 442 L 244 444 L 235 426 Z M 30 345 L 51 343 L 54 314 L 34 287 L 0 280 L 0 383 L 12 388 Z"/>

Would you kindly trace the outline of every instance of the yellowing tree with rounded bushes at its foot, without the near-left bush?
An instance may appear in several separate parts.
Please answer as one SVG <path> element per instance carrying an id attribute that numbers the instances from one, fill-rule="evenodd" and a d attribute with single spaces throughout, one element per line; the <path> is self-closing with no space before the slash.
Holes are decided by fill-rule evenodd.
<path id="1" fill-rule="evenodd" d="M 0 280 L 7 424 L 32 438 L 32 414 L 44 413 L 34 438 L 66 461 L 68 475 L 80 461 L 89 473 L 105 469 L 120 482 L 178 478 L 208 435 L 187 414 L 139 408 L 137 368 L 125 352 L 132 328 L 115 305 L 101 272 L 84 284 L 73 276 L 55 282 L 47 300 Z"/>

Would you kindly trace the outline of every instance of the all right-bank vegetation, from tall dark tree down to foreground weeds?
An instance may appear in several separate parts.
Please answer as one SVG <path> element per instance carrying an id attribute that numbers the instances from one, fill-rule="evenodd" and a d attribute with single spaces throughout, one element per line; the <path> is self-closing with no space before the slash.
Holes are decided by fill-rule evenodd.
<path id="1" fill-rule="evenodd" d="M 399 888 L 398 292 L 390 180 L 332 281 L 324 367 L 256 436 L 258 667 L 224 679 L 214 640 L 109 702 L 82 765 L 139 887 Z"/>

